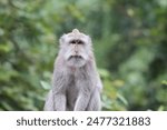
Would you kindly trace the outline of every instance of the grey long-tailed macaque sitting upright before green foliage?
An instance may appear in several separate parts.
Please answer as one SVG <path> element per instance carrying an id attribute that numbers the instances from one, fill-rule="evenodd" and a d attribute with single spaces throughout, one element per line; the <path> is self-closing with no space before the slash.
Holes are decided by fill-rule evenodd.
<path id="1" fill-rule="evenodd" d="M 46 111 L 98 111 L 102 83 L 97 72 L 91 39 L 73 29 L 63 34 L 55 61 L 52 89 Z"/>

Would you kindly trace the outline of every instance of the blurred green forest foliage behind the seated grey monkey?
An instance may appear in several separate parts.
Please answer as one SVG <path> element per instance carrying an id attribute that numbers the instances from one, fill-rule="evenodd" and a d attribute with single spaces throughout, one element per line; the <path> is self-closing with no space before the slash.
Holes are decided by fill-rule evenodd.
<path id="1" fill-rule="evenodd" d="M 0 0 L 0 110 L 42 110 L 73 28 L 92 38 L 102 110 L 167 110 L 167 0 Z"/>

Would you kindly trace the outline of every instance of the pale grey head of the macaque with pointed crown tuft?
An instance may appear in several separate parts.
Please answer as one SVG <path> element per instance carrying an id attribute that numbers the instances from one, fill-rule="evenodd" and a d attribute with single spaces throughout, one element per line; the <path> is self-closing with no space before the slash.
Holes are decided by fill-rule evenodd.
<path id="1" fill-rule="evenodd" d="M 79 32 L 78 29 L 63 34 L 59 41 L 59 54 L 62 56 L 69 67 L 84 67 L 92 54 L 91 39 L 85 33 Z"/>

